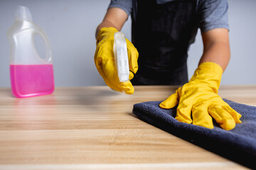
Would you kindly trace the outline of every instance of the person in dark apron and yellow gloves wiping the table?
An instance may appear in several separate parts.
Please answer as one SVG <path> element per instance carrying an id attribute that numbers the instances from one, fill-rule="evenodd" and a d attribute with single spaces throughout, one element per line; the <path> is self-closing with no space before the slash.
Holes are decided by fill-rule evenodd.
<path id="1" fill-rule="evenodd" d="M 230 60 L 227 11 L 226 0 L 112 0 L 96 30 L 96 67 L 110 88 L 127 94 L 134 93 L 132 84 L 183 84 L 159 106 L 169 109 L 178 104 L 176 119 L 183 123 L 213 128 L 214 118 L 221 128 L 231 130 L 235 123 L 241 123 L 241 115 L 218 96 L 221 76 Z M 130 14 L 132 43 L 127 40 L 127 51 L 132 82 L 121 84 L 114 65 L 113 40 Z M 198 28 L 203 55 L 188 81 L 188 48 Z"/>

